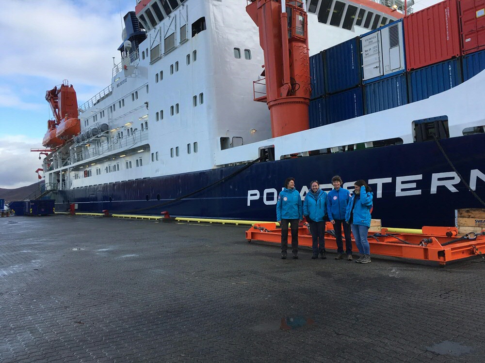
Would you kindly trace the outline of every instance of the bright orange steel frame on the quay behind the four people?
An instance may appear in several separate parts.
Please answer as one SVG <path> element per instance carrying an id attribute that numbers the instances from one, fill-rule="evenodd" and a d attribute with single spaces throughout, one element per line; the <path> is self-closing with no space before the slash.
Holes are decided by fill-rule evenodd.
<path id="1" fill-rule="evenodd" d="M 372 255 L 435 261 L 441 266 L 447 262 L 473 256 L 480 256 L 485 262 L 485 231 L 470 232 L 461 237 L 457 236 L 458 231 L 455 227 L 423 227 L 422 234 L 390 234 L 387 231 L 387 228 L 382 228 L 378 233 L 369 231 L 368 241 Z M 291 230 L 288 232 L 291 236 Z M 279 245 L 281 229 L 276 228 L 275 223 L 255 224 L 246 231 L 246 240 Z M 298 245 L 312 245 L 311 234 L 306 225 L 298 228 Z M 353 236 L 352 245 L 353 250 L 357 251 Z M 335 231 L 330 222 L 326 222 L 325 248 L 337 250 Z"/>

